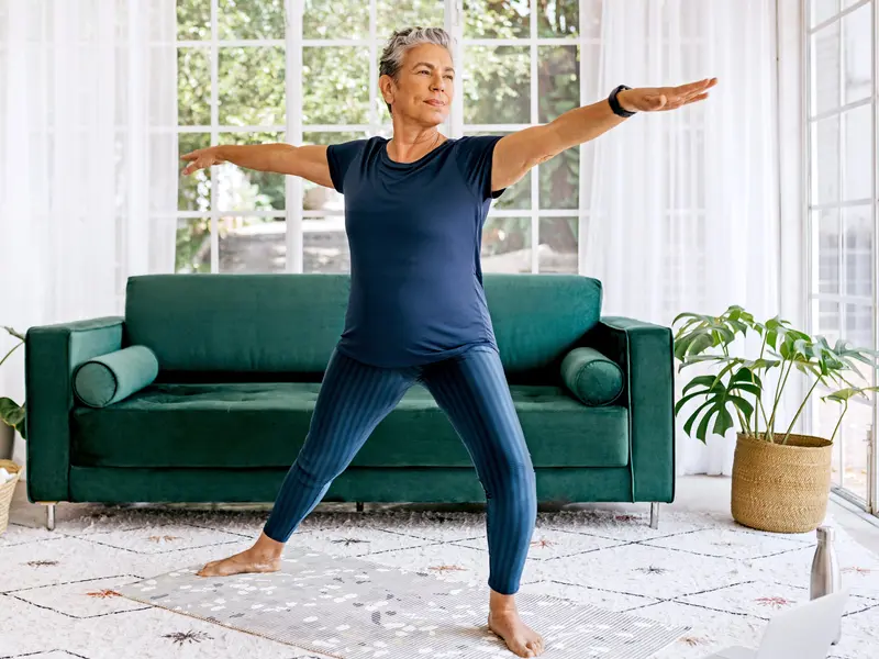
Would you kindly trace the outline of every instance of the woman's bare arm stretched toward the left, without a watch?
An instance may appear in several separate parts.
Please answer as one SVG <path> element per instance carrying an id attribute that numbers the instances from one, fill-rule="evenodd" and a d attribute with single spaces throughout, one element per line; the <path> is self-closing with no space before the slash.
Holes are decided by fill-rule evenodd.
<path id="1" fill-rule="evenodd" d="M 289 174 L 310 180 L 326 188 L 333 187 L 330 165 L 326 161 L 326 146 L 292 144 L 244 144 L 220 145 L 200 148 L 180 156 L 189 165 L 182 174 L 189 175 L 222 163 L 232 163 L 245 169 Z"/>

